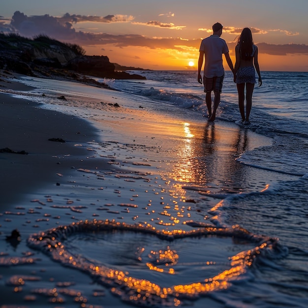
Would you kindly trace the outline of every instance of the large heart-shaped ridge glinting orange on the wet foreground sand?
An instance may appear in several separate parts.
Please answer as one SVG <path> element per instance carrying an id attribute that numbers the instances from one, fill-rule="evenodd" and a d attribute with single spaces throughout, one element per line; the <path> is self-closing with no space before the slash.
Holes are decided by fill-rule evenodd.
<path id="1" fill-rule="evenodd" d="M 197 281 L 162 286 L 150 279 L 130 276 L 125 270 L 125 264 L 121 266 L 106 265 L 96 262 L 88 256 L 71 252 L 65 243 L 76 234 L 99 235 L 106 232 L 134 232 L 144 236 L 154 236 L 157 242 L 164 241 L 169 245 L 157 250 L 149 250 L 146 258 L 143 252 L 146 249 L 142 245 L 138 247 L 136 258 L 148 271 L 164 273 L 164 275 L 178 275 L 176 282 L 181 282 L 181 275 L 176 273 L 179 255 L 172 244 L 179 240 L 192 239 L 233 239 L 252 244 L 251 249 L 240 251 L 229 257 L 228 265 L 211 277 L 199 277 Z M 183 230 L 157 230 L 154 227 L 141 224 L 128 224 L 115 220 L 85 220 L 74 222 L 67 226 L 59 226 L 32 234 L 28 239 L 28 246 L 39 249 L 50 255 L 54 261 L 65 266 L 78 269 L 90 275 L 96 282 L 108 287 L 110 291 L 121 297 L 123 301 L 133 305 L 143 306 L 179 306 L 183 299 L 196 299 L 202 295 L 216 290 L 226 289 L 231 284 L 231 279 L 246 273 L 247 269 L 260 256 L 271 253 L 277 247 L 277 239 L 265 236 L 256 236 L 239 226 L 232 228 L 202 227 L 190 231 Z M 83 251 L 83 250 L 82 250 Z M 218 252 L 219 253 L 219 252 Z M 85 253 L 86 254 L 86 253 Z M 97 256 L 95 256 L 97 258 Z M 102 255 L 103 258 L 103 255 Z M 146 261 L 143 261 L 146 259 Z M 145 272 L 146 273 L 146 272 Z M 151 277 L 148 275 L 147 277 Z M 161 279 L 161 281 L 163 278 Z M 183 279 L 184 280 L 184 279 Z"/>

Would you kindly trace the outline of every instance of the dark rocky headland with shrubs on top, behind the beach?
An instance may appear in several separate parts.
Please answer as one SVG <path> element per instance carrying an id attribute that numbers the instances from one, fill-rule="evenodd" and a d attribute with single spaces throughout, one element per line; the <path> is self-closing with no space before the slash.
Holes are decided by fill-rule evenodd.
<path id="1" fill-rule="evenodd" d="M 106 56 L 85 56 L 80 46 L 44 35 L 29 39 L 0 33 L 0 69 L 38 77 L 82 78 L 77 73 L 101 78 L 146 79 L 115 71 L 115 65 Z"/>

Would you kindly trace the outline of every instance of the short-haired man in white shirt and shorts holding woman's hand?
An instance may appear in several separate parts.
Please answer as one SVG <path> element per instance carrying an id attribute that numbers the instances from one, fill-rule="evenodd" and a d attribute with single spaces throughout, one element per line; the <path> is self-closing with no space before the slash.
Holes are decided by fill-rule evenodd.
<path id="1" fill-rule="evenodd" d="M 213 25 L 213 34 L 201 41 L 198 60 L 198 82 L 202 84 L 201 68 L 203 58 L 205 58 L 203 71 L 204 92 L 206 92 L 205 101 L 209 111 L 209 121 L 213 122 L 216 118 L 216 110 L 220 103 L 220 93 L 222 90 L 222 82 L 224 77 L 224 68 L 222 65 L 222 54 L 234 73 L 233 63 L 229 56 L 228 46 L 220 35 L 222 33 L 222 25 L 216 23 Z M 214 91 L 214 105 L 212 112 L 212 91 Z"/>

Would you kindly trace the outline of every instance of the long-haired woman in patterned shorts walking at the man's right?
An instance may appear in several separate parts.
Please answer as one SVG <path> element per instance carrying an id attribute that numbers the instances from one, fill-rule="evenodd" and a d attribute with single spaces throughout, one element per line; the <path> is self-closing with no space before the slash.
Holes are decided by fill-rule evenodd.
<path id="1" fill-rule="evenodd" d="M 239 93 L 239 108 L 244 125 L 250 124 L 249 114 L 252 105 L 252 92 L 254 88 L 255 71 L 259 76 L 259 87 L 262 86 L 262 79 L 258 63 L 258 47 L 253 44 L 252 34 L 249 28 L 244 28 L 235 47 L 234 82 Z M 246 85 L 246 116 L 244 109 Z"/>

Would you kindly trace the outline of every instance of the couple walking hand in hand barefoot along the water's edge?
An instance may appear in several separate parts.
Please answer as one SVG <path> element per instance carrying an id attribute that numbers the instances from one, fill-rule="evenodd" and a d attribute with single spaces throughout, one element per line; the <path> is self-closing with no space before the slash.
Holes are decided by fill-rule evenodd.
<path id="1" fill-rule="evenodd" d="M 249 124 L 249 114 L 252 104 L 252 92 L 254 88 L 255 70 L 259 76 L 259 87 L 262 85 L 260 68 L 258 63 L 258 47 L 253 44 L 252 34 L 249 28 L 245 28 L 239 36 L 235 47 L 236 62 L 233 63 L 229 56 L 228 46 L 220 35 L 222 25 L 216 23 L 213 25 L 213 34 L 202 40 L 200 45 L 200 55 L 198 60 L 198 82 L 202 84 L 201 68 L 203 60 L 204 76 L 203 85 L 206 92 L 206 104 L 209 112 L 209 121 L 213 122 L 216 118 L 216 110 L 220 102 L 220 93 L 224 77 L 224 68 L 222 65 L 222 54 L 233 72 L 234 82 L 237 85 L 239 95 L 239 109 L 243 124 Z M 246 114 L 245 114 L 245 86 L 246 86 Z M 212 91 L 214 91 L 214 104 L 212 111 Z"/>

